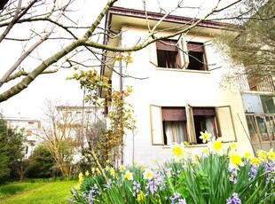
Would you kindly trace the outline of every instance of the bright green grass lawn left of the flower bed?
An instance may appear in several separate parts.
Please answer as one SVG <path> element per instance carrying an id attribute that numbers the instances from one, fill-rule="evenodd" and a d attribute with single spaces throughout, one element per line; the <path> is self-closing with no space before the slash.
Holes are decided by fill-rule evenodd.
<path id="1" fill-rule="evenodd" d="M 71 187 L 77 184 L 77 181 L 57 181 L 50 183 L 43 183 L 34 189 L 26 190 L 18 194 L 12 195 L 4 200 L 0 199 L 2 204 L 47 204 L 47 203 L 68 203 L 67 199 L 72 197 L 70 192 Z"/>

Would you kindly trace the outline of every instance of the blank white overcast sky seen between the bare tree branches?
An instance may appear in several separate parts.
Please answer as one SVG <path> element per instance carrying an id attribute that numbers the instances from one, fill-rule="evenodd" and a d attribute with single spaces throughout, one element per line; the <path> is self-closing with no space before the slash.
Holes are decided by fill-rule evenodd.
<path id="1" fill-rule="evenodd" d="M 79 2 L 79 1 L 76 1 Z M 106 3 L 106 0 L 84 0 L 80 1 L 79 8 L 80 13 L 87 14 L 89 16 L 87 19 L 96 18 L 98 16 L 98 12 L 101 10 L 103 5 Z M 147 8 L 149 11 L 156 10 L 157 8 L 157 0 L 147 1 Z M 168 10 L 172 8 L 173 3 L 177 4 L 177 0 L 161 0 L 161 4 L 166 4 Z M 169 4 L 167 4 L 169 2 Z M 199 4 L 203 4 L 207 2 L 207 7 L 201 7 L 202 10 L 209 8 L 209 2 L 216 3 L 216 1 L 194 1 L 194 0 L 186 0 L 190 6 L 194 6 Z M 228 1 L 224 1 L 227 2 Z M 141 0 L 119 0 L 118 4 L 126 7 L 131 7 L 134 9 L 143 9 L 143 4 Z M 170 8 L 169 8 L 170 7 Z M 185 14 L 187 14 L 185 12 Z M 197 15 L 197 13 L 193 13 Z M 82 20 L 85 20 L 83 17 Z M 28 27 L 20 27 L 20 31 Z M 45 47 L 45 53 L 54 52 L 54 46 L 48 45 Z M 41 53 L 43 54 L 43 53 Z M 1 58 L 1 68 L 0 68 L 0 76 L 2 77 L 3 73 L 7 70 L 8 67 L 14 63 L 15 59 L 18 59 L 20 56 L 20 47 L 13 46 L 11 42 L 1 43 L 0 44 L 0 58 Z M 32 63 L 32 62 L 28 62 Z M 63 103 L 69 103 L 72 106 L 81 105 L 83 100 L 83 91 L 80 90 L 80 86 L 78 82 L 75 81 L 67 81 L 66 77 L 72 75 L 72 71 L 69 70 L 61 70 L 59 73 L 54 75 L 40 75 L 35 79 L 35 82 L 32 82 L 26 90 L 20 92 L 20 94 L 8 99 L 0 103 L 0 111 L 4 114 L 4 116 L 18 116 L 28 117 L 39 119 L 43 114 L 43 110 L 45 109 L 45 99 L 51 99 L 52 101 L 56 101 L 59 99 Z M 4 87 L 3 87 L 4 88 Z M 3 91 L 1 88 L 1 92 Z"/>

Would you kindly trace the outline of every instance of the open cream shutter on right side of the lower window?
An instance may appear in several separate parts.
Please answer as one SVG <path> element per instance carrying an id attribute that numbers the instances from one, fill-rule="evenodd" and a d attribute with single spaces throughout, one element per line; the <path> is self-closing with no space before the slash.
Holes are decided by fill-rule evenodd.
<path id="1" fill-rule="evenodd" d="M 236 136 L 230 106 L 216 107 L 216 121 L 218 137 L 223 137 L 224 142 L 235 142 Z"/>

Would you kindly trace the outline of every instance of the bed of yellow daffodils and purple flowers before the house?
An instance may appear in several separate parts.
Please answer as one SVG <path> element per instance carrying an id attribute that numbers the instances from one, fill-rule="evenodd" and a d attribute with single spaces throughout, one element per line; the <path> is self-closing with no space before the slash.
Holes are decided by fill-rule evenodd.
<path id="1" fill-rule="evenodd" d="M 203 139 L 203 138 L 202 138 Z M 205 142 L 208 138 L 205 138 Z M 275 153 L 240 155 L 224 150 L 219 139 L 201 155 L 185 145 L 171 148 L 172 159 L 157 169 L 134 165 L 106 167 L 79 175 L 72 202 L 77 203 L 275 203 Z"/>

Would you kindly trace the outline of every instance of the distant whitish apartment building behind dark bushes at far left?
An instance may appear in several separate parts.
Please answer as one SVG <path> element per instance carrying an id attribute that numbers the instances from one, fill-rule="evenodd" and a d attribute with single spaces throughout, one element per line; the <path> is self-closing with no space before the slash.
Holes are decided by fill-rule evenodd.
<path id="1" fill-rule="evenodd" d="M 4 120 L 6 120 L 12 128 L 24 129 L 25 135 L 27 136 L 27 141 L 24 143 L 24 154 L 25 158 L 28 158 L 35 150 L 35 147 L 42 142 L 42 138 L 39 137 L 41 122 L 25 117 L 4 117 Z"/>

